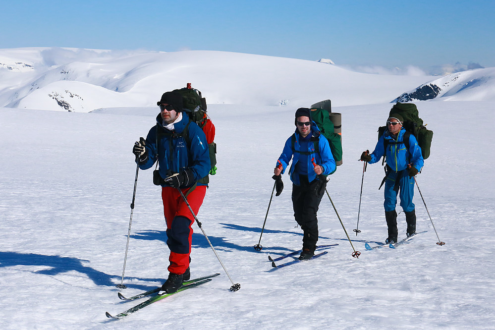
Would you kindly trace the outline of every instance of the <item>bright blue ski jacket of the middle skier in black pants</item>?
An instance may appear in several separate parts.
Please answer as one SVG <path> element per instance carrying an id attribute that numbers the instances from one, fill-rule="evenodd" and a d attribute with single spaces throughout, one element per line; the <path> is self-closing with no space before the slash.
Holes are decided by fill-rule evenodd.
<path id="1" fill-rule="evenodd" d="M 322 166 L 323 168 L 322 174 L 329 175 L 331 172 L 335 170 L 335 160 L 333 159 L 333 156 L 331 154 L 329 142 L 327 138 L 324 137 L 323 134 L 321 134 L 320 129 L 318 128 L 318 126 L 314 121 L 311 123 L 310 134 L 311 134 L 311 140 L 307 144 L 307 149 L 301 150 L 301 145 L 299 144 L 299 140 L 301 136 L 299 135 L 299 132 L 296 128 L 296 131 L 294 133 L 295 135 L 294 150 L 292 150 L 292 136 L 290 136 L 287 139 L 287 141 L 285 141 L 282 154 L 278 158 L 278 161 L 275 165 L 276 167 L 279 164 L 282 164 L 283 168 L 281 174 L 283 174 L 285 172 L 285 168 L 287 168 L 290 160 L 292 159 L 292 165 L 289 168 L 289 177 L 290 180 L 295 185 L 301 185 L 299 181 L 299 175 L 293 175 L 294 169 L 296 168 L 296 165 L 300 160 L 305 160 L 307 162 L 306 166 L 302 166 L 307 168 L 307 173 L 301 173 L 301 174 L 308 175 L 309 182 L 312 182 L 316 178 L 316 173 L 313 170 L 314 166 L 311 163 L 312 158 L 315 159 L 315 163 L 317 165 Z M 316 152 L 314 148 L 315 139 L 316 141 L 318 141 L 319 152 Z"/>

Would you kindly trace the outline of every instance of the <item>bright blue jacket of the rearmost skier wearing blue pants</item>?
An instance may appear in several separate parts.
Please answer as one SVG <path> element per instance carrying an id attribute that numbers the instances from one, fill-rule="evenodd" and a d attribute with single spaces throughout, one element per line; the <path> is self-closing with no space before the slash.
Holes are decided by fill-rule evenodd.
<path id="1" fill-rule="evenodd" d="M 425 161 L 421 155 L 421 147 L 418 146 L 418 141 L 413 134 L 409 135 L 409 150 L 406 150 L 406 145 L 402 142 L 405 128 L 402 127 L 397 134 L 397 138 L 394 139 L 388 129 L 385 130 L 384 134 L 378 139 L 377 146 L 375 150 L 370 155 L 371 161 L 369 164 L 374 164 L 380 161 L 380 159 L 385 155 L 386 164 L 394 172 L 398 172 L 407 168 L 408 164 L 416 167 L 418 171 L 421 171 Z M 384 140 L 387 140 L 386 151 Z M 398 144 L 395 144 L 399 142 Z"/>

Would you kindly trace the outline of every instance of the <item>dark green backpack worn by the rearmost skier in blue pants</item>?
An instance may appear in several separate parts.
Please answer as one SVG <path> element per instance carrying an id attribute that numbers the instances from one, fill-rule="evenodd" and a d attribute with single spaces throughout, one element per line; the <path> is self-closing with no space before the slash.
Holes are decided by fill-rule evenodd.
<path id="1" fill-rule="evenodd" d="M 423 125 L 423 119 L 419 117 L 418 108 L 414 103 L 399 103 L 393 105 L 392 109 L 388 113 L 397 113 L 402 116 L 404 123 L 402 127 L 405 128 L 406 134 L 404 134 L 403 142 L 407 149 L 409 149 L 409 135 L 413 134 L 418 140 L 418 145 L 421 147 L 421 154 L 423 159 L 430 157 L 430 149 L 432 147 L 433 131 L 427 129 Z M 378 138 L 380 138 L 385 132 L 386 126 L 381 126 L 378 129 Z M 386 140 L 384 141 L 386 149 Z"/>

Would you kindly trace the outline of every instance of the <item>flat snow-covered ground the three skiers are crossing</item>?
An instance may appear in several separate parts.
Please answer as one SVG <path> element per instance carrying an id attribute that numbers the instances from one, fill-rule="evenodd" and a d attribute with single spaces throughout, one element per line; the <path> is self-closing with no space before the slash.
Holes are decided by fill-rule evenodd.
<path id="1" fill-rule="evenodd" d="M 417 181 L 444 246 L 436 245 L 416 190 L 418 230 L 428 232 L 396 250 L 364 249 L 365 242 L 386 237 L 378 190 L 384 172 L 379 164 L 368 166 L 356 237 L 363 168 L 357 159 L 375 147 L 391 104 L 336 107 L 344 158 L 328 191 L 361 257 L 351 256 L 325 196 L 319 244 L 339 245 L 319 259 L 274 271 L 268 255 L 300 249 L 302 242 L 287 175 L 284 191 L 272 201 L 264 248 L 257 252 L 253 245 L 295 109 L 213 104 L 219 170 L 198 218 L 241 289 L 228 290 L 228 277 L 194 225 L 192 276 L 221 275 L 119 321 L 105 312 L 118 314 L 134 304 L 120 301 L 115 287 L 136 169 L 131 146 L 154 124 L 156 107 L 92 113 L 0 108 L 1 329 L 494 329 L 495 103 L 417 104 L 435 132 Z M 162 201 L 151 172 L 139 172 L 126 295 L 167 276 Z M 398 223 L 404 237 L 402 213 Z"/>

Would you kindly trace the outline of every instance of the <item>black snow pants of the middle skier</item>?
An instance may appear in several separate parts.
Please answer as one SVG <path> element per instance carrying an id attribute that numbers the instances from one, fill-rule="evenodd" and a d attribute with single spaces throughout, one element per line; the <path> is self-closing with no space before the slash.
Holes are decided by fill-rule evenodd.
<path id="1" fill-rule="evenodd" d="M 315 179 L 311 183 L 308 177 L 300 175 L 301 185 L 292 184 L 292 207 L 294 218 L 304 232 L 303 249 L 315 251 L 318 242 L 318 218 L 316 213 L 322 201 L 327 181 Z"/>

